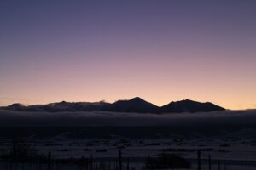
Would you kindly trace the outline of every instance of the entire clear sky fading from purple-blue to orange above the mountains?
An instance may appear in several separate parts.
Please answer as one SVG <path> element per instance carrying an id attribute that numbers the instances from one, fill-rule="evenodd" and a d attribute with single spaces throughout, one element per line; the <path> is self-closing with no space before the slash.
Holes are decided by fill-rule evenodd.
<path id="1" fill-rule="evenodd" d="M 0 2 L 0 105 L 211 101 L 256 108 L 256 1 Z"/>

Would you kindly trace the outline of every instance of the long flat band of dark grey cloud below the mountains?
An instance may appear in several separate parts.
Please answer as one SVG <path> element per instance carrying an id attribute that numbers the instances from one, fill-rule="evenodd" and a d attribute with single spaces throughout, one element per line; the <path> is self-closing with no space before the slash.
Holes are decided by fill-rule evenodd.
<path id="1" fill-rule="evenodd" d="M 138 114 L 0 111 L 1 126 L 253 126 L 256 110 Z"/>

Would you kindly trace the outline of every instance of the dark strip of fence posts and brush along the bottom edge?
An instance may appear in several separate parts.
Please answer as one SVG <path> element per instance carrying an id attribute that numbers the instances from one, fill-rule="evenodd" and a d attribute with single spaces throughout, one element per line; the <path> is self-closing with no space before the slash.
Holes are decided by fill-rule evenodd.
<path id="1" fill-rule="evenodd" d="M 234 161 L 212 159 L 210 154 L 197 150 L 196 159 L 188 159 L 191 166 L 176 166 L 177 159 L 157 159 L 157 157 L 123 157 L 119 150 L 116 157 L 90 157 L 57 159 L 49 152 L 48 156 L 31 159 L 2 158 L 1 170 L 154 170 L 154 169 L 191 169 L 191 170 L 253 170 L 256 161 Z M 173 161 L 174 160 L 174 161 Z M 180 160 L 179 160 L 180 161 Z M 184 164 L 186 161 L 182 161 Z M 168 166 L 167 166 L 168 165 Z"/>

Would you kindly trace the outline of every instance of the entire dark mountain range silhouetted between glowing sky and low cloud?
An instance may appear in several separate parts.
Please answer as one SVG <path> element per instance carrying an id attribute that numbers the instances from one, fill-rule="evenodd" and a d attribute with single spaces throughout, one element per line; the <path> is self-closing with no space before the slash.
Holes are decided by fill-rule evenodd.
<path id="1" fill-rule="evenodd" d="M 118 100 L 114 103 L 100 102 L 66 102 L 50 103 L 46 105 L 21 105 L 13 104 L 0 107 L 10 111 L 113 111 L 113 112 L 137 112 L 137 113 L 182 113 L 182 112 L 209 112 L 224 111 L 223 107 L 210 102 L 201 103 L 189 99 L 171 102 L 161 107 L 151 104 L 139 97 L 129 100 Z"/>

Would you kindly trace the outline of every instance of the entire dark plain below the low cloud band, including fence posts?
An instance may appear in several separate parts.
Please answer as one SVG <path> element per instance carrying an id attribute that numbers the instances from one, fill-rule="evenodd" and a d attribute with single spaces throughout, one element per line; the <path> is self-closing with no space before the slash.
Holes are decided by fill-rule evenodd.
<path id="1" fill-rule="evenodd" d="M 201 169 L 209 166 L 254 169 L 255 129 L 253 125 L 0 127 L 0 167 L 8 170 L 196 169 L 200 151 Z M 162 167 L 163 164 L 166 166 Z"/>

